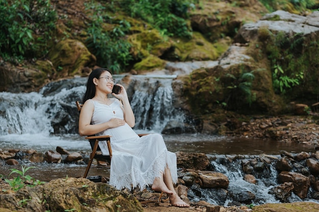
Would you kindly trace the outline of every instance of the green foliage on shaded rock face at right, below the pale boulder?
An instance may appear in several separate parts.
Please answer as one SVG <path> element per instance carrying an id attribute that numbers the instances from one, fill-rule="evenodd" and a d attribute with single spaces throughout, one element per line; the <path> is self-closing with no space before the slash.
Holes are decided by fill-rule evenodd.
<path id="1" fill-rule="evenodd" d="M 319 43 L 308 42 L 303 34 L 271 34 L 266 49 L 272 62 L 273 87 L 277 94 L 285 94 L 303 83 L 305 76 L 316 66 L 319 52 L 315 46 Z"/>

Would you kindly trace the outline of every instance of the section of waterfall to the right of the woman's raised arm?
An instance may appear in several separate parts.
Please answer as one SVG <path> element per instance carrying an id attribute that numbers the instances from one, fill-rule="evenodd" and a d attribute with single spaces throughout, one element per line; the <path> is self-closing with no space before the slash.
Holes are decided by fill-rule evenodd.
<path id="1" fill-rule="evenodd" d="M 136 126 L 139 131 L 161 133 L 168 123 L 174 121 L 183 123 L 183 111 L 174 108 L 174 92 L 172 77 L 139 76 L 130 82 L 134 94 L 131 95 L 131 107 L 136 116 Z"/>

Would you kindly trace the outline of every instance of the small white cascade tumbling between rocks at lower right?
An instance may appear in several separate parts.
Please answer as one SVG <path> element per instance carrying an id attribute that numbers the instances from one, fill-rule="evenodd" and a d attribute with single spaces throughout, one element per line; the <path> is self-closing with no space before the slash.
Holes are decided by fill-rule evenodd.
<path id="1" fill-rule="evenodd" d="M 242 164 L 244 160 L 251 160 L 260 156 L 240 156 L 238 159 L 234 159 L 233 156 L 225 155 L 210 155 L 210 163 L 216 172 L 223 173 L 229 179 L 229 185 L 227 191 L 220 188 L 203 189 L 194 184 L 189 192 L 188 196 L 193 201 L 206 201 L 210 204 L 225 205 L 233 202 L 245 202 L 243 199 L 247 194 L 252 195 L 254 198 L 246 202 L 247 205 L 259 205 L 265 203 L 280 203 L 272 193 L 272 189 L 279 185 L 277 180 L 278 171 L 275 168 L 275 160 L 268 164 L 268 166 L 260 173 L 254 173 L 256 176 L 256 184 L 249 183 L 244 180 L 245 173 L 243 172 Z M 271 156 L 278 157 L 280 156 Z M 231 159 L 233 158 L 233 159 Z M 240 158 L 240 159 L 239 159 Z M 245 198 L 243 198 L 243 196 Z M 249 199 L 249 198 L 248 198 Z M 298 201 L 314 201 L 314 199 L 300 199 L 296 194 L 291 193 L 291 196 L 287 198 L 287 202 Z"/>

